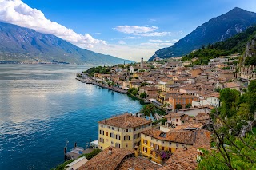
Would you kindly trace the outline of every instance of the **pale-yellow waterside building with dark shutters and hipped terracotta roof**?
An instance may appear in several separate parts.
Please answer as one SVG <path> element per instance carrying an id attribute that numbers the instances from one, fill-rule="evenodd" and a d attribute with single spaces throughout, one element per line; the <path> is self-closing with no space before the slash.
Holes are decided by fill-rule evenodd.
<path id="1" fill-rule="evenodd" d="M 125 113 L 98 122 L 98 148 L 109 146 L 134 151 L 140 145 L 140 132 L 152 126 L 152 121 Z"/>

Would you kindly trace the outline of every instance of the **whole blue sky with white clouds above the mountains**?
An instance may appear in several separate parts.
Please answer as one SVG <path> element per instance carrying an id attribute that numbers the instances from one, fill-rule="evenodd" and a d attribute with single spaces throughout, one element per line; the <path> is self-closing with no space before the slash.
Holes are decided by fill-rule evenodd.
<path id="1" fill-rule="evenodd" d="M 211 18 L 255 0 L 0 0 L 0 21 L 54 34 L 83 49 L 149 59 Z"/>

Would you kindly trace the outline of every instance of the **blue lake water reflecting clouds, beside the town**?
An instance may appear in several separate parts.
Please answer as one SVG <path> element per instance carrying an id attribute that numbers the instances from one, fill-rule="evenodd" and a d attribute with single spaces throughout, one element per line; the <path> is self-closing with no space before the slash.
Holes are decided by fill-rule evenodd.
<path id="1" fill-rule="evenodd" d="M 50 169 L 63 147 L 98 139 L 98 121 L 142 104 L 76 81 L 90 65 L 0 65 L 0 169 Z"/>

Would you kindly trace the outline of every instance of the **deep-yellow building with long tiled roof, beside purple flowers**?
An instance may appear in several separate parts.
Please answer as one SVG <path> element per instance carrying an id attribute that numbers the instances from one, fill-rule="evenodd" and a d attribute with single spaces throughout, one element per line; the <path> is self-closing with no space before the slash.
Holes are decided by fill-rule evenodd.
<path id="1" fill-rule="evenodd" d="M 194 144 L 210 144 L 210 132 L 202 129 L 163 132 L 150 128 L 141 132 L 141 154 L 158 164 L 164 164 L 161 152 L 175 152 Z"/>

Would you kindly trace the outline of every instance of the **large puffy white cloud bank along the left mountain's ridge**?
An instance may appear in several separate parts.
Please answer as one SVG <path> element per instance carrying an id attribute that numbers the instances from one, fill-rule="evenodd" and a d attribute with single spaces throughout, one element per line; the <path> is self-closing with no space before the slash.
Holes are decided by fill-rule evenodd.
<path id="1" fill-rule="evenodd" d="M 97 44 L 106 45 L 105 41 L 94 39 L 90 34 L 77 34 L 72 29 L 50 21 L 42 11 L 32 9 L 21 0 L 0 0 L 0 21 L 34 29 L 45 34 L 54 34 L 86 48 L 93 48 Z"/>

